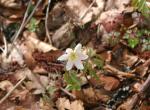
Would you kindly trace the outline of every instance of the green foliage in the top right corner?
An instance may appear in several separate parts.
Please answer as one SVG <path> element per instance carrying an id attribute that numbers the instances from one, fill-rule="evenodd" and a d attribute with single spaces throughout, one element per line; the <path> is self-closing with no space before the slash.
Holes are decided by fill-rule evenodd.
<path id="1" fill-rule="evenodd" d="M 146 4 L 146 0 L 132 0 L 132 6 L 138 9 L 145 17 L 150 17 L 150 7 Z"/>

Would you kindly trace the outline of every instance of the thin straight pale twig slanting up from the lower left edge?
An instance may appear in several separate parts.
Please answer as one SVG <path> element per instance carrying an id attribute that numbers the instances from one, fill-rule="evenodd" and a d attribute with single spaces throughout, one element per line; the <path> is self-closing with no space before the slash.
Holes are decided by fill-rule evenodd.
<path id="1" fill-rule="evenodd" d="M 26 79 L 26 76 L 24 76 L 1 100 L 0 104 L 2 104 L 10 95 L 11 93 Z"/>

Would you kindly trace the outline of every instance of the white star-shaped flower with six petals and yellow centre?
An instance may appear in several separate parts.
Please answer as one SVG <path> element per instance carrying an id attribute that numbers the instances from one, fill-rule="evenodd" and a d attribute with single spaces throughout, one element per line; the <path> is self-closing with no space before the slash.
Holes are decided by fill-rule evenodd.
<path id="1" fill-rule="evenodd" d="M 76 66 L 77 69 L 84 69 L 82 60 L 86 60 L 88 55 L 83 54 L 82 45 L 78 44 L 74 50 L 71 48 L 66 49 L 65 54 L 60 56 L 58 60 L 67 61 L 66 70 L 71 70 L 73 66 Z"/>

